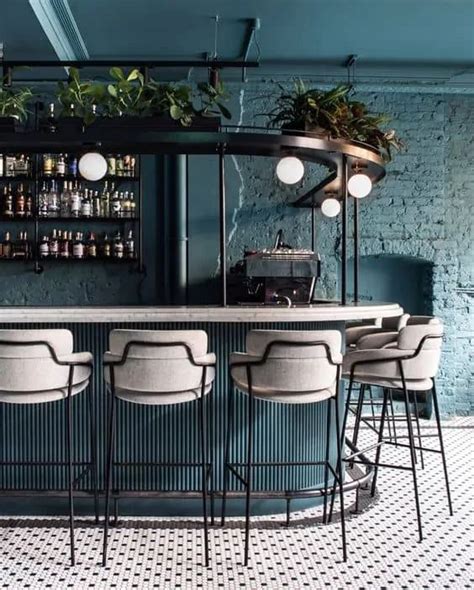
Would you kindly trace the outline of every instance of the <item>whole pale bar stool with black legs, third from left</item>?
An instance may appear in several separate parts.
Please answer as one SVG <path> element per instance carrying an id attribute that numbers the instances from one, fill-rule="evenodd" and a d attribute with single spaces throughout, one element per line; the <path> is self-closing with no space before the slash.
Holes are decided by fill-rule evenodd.
<path id="1" fill-rule="evenodd" d="M 224 488 L 222 498 L 222 524 L 225 521 L 226 496 L 229 475 L 238 479 L 246 490 L 245 500 L 245 549 L 244 565 L 248 564 L 250 537 L 250 501 L 252 497 L 252 470 L 254 467 L 268 466 L 253 460 L 254 439 L 254 401 L 282 404 L 309 404 L 326 402 L 326 448 L 325 460 L 300 462 L 298 465 L 324 465 L 324 516 L 326 522 L 329 470 L 334 477 L 333 496 L 336 482 L 341 502 L 341 535 L 344 561 L 347 558 L 346 532 L 344 521 L 344 492 L 342 475 L 342 456 L 338 386 L 341 371 L 341 334 L 335 330 L 327 331 L 279 331 L 252 330 L 247 334 L 247 352 L 235 352 L 230 357 L 231 379 L 235 387 L 248 395 L 247 412 L 247 458 L 244 463 L 230 463 L 230 441 L 233 421 L 234 389 L 228 397 L 228 423 L 224 459 Z M 334 402 L 336 419 L 337 465 L 333 468 L 329 461 L 331 442 L 331 405 Z M 278 466 L 289 466 L 291 462 L 278 462 Z M 245 467 L 245 477 L 238 470 Z M 309 489 L 305 488 L 305 491 Z M 316 491 L 316 489 L 314 490 Z M 284 492 L 284 497 L 291 499 L 296 495 Z"/>

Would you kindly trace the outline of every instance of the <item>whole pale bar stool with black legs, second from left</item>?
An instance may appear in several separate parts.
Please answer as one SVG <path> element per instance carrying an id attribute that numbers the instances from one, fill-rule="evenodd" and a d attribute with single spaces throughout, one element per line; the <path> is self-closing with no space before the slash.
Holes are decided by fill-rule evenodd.
<path id="1" fill-rule="evenodd" d="M 152 331 L 112 330 L 110 351 L 104 356 L 104 375 L 110 391 L 108 409 L 108 444 L 105 485 L 105 525 L 103 565 L 107 562 L 110 492 L 112 487 L 114 447 L 117 438 L 115 406 L 118 401 L 152 406 L 196 404 L 199 424 L 201 461 L 199 463 L 153 463 L 167 467 L 200 467 L 204 518 L 205 564 L 209 565 L 207 522 L 208 482 L 212 475 L 212 456 L 207 458 L 206 413 L 204 400 L 215 378 L 216 356 L 207 352 L 208 338 L 202 330 Z M 209 396 L 212 399 L 212 396 Z M 210 408 L 212 414 L 212 407 Z M 209 429 L 212 428 L 212 415 Z M 210 451 L 212 451 L 212 434 Z M 143 465 L 128 462 L 128 465 Z M 150 462 L 145 465 L 150 466 Z M 117 490 L 119 491 L 119 490 Z M 183 492 L 184 495 L 184 492 Z M 211 493 L 211 514 L 213 496 Z"/>

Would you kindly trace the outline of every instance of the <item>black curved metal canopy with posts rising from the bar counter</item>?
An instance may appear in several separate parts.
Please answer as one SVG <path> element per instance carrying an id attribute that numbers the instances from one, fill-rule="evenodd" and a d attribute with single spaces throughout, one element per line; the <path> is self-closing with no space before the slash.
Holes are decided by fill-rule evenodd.
<path id="1" fill-rule="evenodd" d="M 282 158 L 295 156 L 303 162 L 315 163 L 328 170 L 328 176 L 313 189 L 292 203 L 295 207 L 315 209 L 327 193 L 338 198 L 342 204 L 341 236 L 341 303 L 347 303 L 347 243 L 348 243 L 348 189 L 352 170 L 363 169 L 373 184 L 385 176 L 385 167 L 380 153 L 373 147 L 355 141 L 320 138 L 300 131 L 281 133 L 262 127 L 220 126 L 218 130 L 163 130 L 153 127 L 153 120 L 145 126 L 128 128 L 126 124 L 104 128 L 92 124 L 81 133 L 61 131 L 48 134 L 39 131 L 0 134 L 0 152 L 17 151 L 48 153 L 55 151 L 115 151 L 130 150 L 139 154 L 186 154 L 216 155 L 219 158 L 219 199 L 220 199 L 220 260 L 221 260 L 221 303 L 227 305 L 226 295 L 226 223 L 225 223 L 225 156 L 261 156 Z M 130 131 L 133 129 L 133 133 Z M 357 199 L 354 199 L 354 300 L 358 293 L 358 237 Z M 312 242 L 314 244 L 314 213 Z"/>

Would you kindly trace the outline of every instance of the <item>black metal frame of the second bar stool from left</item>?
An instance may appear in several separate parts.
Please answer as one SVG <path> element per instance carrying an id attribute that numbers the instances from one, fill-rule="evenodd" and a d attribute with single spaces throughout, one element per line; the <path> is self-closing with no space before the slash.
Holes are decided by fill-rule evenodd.
<path id="1" fill-rule="evenodd" d="M 120 398 L 116 396 L 115 391 L 115 367 L 123 366 L 128 358 L 129 352 L 131 348 L 176 348 L 181 347 L 184 348 L 186 351 L 186 355 L 190 363 L 195 367 L 202 367 L 202 380 L 201 380 L 201 395 L 198 398 L 198 404 L 196 406 L 196 419 L 199 423 L 200 427 L 200 447 L 201 447 L 201 461 L 198 463 L 195 462 L 140 462 L 140 461 L 133 461 L 127 463 L 120 463 L 115 462 L 114 459 L 114 443 L 116 438 L 116 420 L 115 420 L 115 406 L 116 401 L 118 402 Z M 104 367 L 110 368 L 110 398 L 108 404 L 108 428 L 107 428 L 107 458 L 106 458 L 106 472 L 105 472 L 105 520 L 104 520 L 104 544 L 103 544 L 103 554 L 102 554 L 102 565 L 105 566 L 107 564 L 107 541 L 108 541 L 108 532 L 109 532 L 109 519 L 110 519 L 110 496 L 111 496 L 111 488 L 113 483 L 113 468 L 114 467 L 136 467 L 136 466 L 147 466 L 147 467 L 200 467 L 202 470 L 202 486 L 201 486 L 201 497 L 202 497 L 202 506 L 203 506 L 203 519 L 204 519 L 204 564 L 207 567 L 209 565 L 209 536 L 208 536 L 208 517 L 207 517 L 207 498 L 209 496 L 210 499 L 210 509 L 211 509 L 211 524 L 214 524 L 214 492 L 212 486 L 212 468 L 214 463 L 213 457 L 213 445 L 210 444 L 213 437 L 213 405 L 212 405 L 212 393 L 209 392 L 206 395 L 206 374 L 207 369 L 209 367 L 215 367 L 216 363 L 203 363 L 199 362 L 194 358 L 193 352 L 189 344 L 182 341 L 173 341 L 173 342 L 146 342 L 143 340 L 131 340 L 127 342 L 122 356 L 120 359 L 117 360 L 108 360 L 104 361 Z M 208 398 L 207 405 L 207 419 L 209 422 L 209 428 L 206 430 L 206 412 L 204 408 L 204 399 Z M 207 432 L 207 440 L 206 440 L 206 432 Z M 209 460 L 207 458 L 207 453 L 209 452 Z M 209 485 L 211 484 L 211 485 Z M 210 487 L 210 490 L 209 490 Z M 145 496 L 150 497 L 151 494 L 149 492 L 136 492 L 134 496 Z M 194 492 L 186 492 L 181 491 L 178 494 L 173 493 L 170 497 L 189 497 L 190 495 L 195 495 Z M 119 496 L 119 490 L 115 490 L 115 499 Z M 153 493 L 153 496 L 162 496 L 166 497 L 166 493 L 156 492 Z M 115 503 L 115 508 L 117 510 L 117 503 Z M 115 519 L 117 518 L 117 514 L 115 515 Z"/>

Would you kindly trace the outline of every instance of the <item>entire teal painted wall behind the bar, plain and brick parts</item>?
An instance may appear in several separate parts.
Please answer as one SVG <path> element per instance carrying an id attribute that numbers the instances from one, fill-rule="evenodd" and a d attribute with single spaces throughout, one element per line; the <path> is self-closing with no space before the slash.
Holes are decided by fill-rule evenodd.
<path id="1" fill-rule="evenodd" d="M 230 85 L 234 124 L 263 124 L 273 83 Z M 412 313 L 435 313 L 446 324 L 441 374 L 445 413 L 474 411 L 474 96 L 445 88 L 374 87 L 360 84 L 360 98 L 393 116 L 408 150 L 388 167 L 388 176 L 361 203 L 362 293 L 400 300 Z M 307 169 L 296 187 L 275 178 L 276 161 L 226 158 L 228 264 L 244 247 L 272 243 L 277 229 L 286 240 L 310 245 L 309 212 L 288 207 L 322 177 Z M 163 300 L 166 247 L 160 160 L 144 162 L 146 276 L 118 267 L 61 265 L 41 276 L 2 265 L 2 304 L 147 304 Z M 215 157 L 189 159 L 189 295 L 191 303 L 217 301 L 219 269 Z M 338 289 L 340 221 L 318 216 L 317 247 L 322 297 Z M 420 274 L 421 273 L 421 274 Z M 422 275 L 422 276 L 421 276 Z M 393 277 L 397 277 L 394 283 Z M 365 284 L 364 284 L 365 278 Z"/>

